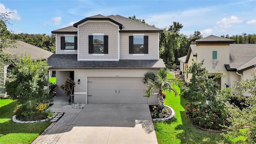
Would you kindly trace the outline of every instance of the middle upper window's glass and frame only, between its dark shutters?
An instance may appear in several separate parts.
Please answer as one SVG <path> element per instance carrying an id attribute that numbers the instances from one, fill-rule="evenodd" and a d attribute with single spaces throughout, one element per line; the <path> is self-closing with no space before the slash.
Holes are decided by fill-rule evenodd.
<path id="1" fill-rule="evenodd" d="M 93 53 L 103 53 L 104 52 L 104 37 L 103 36 L 93 36 Z"/>

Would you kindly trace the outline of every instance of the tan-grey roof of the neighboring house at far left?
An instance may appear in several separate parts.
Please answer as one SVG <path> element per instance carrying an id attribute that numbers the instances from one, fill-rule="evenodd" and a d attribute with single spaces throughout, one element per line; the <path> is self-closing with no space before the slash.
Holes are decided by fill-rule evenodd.
<path id="1" fill-rule="evenodd" d="M 28 56 L 29 54 L 31 55 L 32 60 L 39 60 L 41 56 L 43 60 L 46 60 L 49 56 L 53 54 L 52 52 L 49 52 L 42 48 L 38 48 L 37 46 L 33 46 L 20 40 L 16 40 L 14 46 L 14 48 L 6 48 L 4 51 L 6 53 L 16 55 L 17 57 L 15 58 L 18 58 L 18 56 L 24 55 L 26 53 L 26 56 Z"/>

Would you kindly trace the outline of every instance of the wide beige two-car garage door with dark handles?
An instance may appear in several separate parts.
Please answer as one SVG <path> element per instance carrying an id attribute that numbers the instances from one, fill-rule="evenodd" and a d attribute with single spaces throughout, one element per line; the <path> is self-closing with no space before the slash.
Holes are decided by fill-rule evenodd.
<path id="1" fill-rule="evenodd" d="M 148 104 L 141 79 L 88 77 L 88 103 Z"/>

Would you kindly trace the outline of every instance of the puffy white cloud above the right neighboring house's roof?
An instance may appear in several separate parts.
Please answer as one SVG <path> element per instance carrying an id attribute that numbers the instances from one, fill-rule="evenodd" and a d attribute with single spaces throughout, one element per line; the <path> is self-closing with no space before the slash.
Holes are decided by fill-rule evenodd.
<path id="1" fill-rule="evenodd" d="M 221 28 L 230 28 L 232 27 L 232 24 L 239 24 L 242 20 L 237 18 L 236 16 L 231 16 L 230 18 L 223 18 L 219 22 L 217 22 L 217 26 Z"/>

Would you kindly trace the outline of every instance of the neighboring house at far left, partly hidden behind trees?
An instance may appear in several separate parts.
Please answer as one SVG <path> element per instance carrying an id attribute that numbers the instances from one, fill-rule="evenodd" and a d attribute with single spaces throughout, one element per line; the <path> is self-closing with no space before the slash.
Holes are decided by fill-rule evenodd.
<path id="1" fill-rule="evenodd" d="M 14 43 L 15 48 L 6 48 L 4 50 L 5 53 L 14 55 L 13 59 L 18 60 L 18 57 L 21 55 L 31 56 L 32 60 L 40 60 L 42 56 L 42 60 L 46 60 L 49 56 L 51 56 L 53 53 L 49 52 L 47 50 L 44 50 L 42 48 L 38 48 L 37 46 L 33 46 L 31 44 L 28 44 L 26 42 L 22 42 L 20 40 L 16 40 L 16 43 Z M 10 69 L 12 69 L 12 64 L 8 63 L 6 66 L 4 66 L 4 84 L 5 84 L 5 78 L 7 76 L 7 73 Z M 6 96 L 5 88 L 1 88 L 1 97 Z"/>

